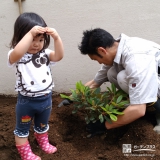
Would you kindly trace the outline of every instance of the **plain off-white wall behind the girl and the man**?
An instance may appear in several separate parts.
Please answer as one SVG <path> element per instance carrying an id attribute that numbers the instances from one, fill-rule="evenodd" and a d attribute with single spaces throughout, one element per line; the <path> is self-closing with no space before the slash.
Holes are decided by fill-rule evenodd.
<path id="1" fill-rule="evenodd" d="M 40 14 L 48 26 L 56 28 L 63 40 L 65 57 L 52 68 L 56 92 L 68 92 L 77 81 L 91 80 L 100 68 L 77 48 L 83 30 L 100 27 L 115 38 L 125 33 L 160 43 L 159 0 L 25 0 L 22 7 L 23 12 Z M 0 94 L 15 94 L 14 71 L 6 62 L 18 15 L 18 2 L 5 0 L 1 3 Z"/>

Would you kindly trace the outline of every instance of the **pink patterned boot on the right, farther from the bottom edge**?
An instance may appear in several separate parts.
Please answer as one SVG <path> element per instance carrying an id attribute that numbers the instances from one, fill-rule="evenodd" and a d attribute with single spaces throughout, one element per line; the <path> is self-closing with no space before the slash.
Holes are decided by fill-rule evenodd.
<path id="1" fill-rule="evenodd" d="M 55 146 L 52 146 L 49 143 L 47 132 L 43 134 L 38 134 L 35 132 L 34 135 L 36 137 L 36 140 L 39 146 L 41 147 L 43 151 L 45 151 L 48 154 L 55 153 L 57 151 L 57 148 Z"/>

